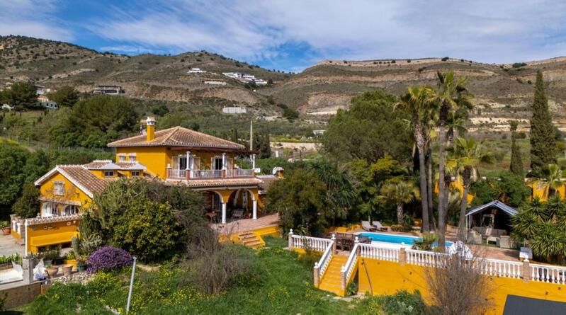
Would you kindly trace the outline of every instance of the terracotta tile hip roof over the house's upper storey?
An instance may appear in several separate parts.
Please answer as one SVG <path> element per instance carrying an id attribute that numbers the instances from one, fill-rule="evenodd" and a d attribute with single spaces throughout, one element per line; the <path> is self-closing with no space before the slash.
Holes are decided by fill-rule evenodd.
<path id="1" fill-rule="evenodd" d="M 200 147 L 215 149 L 237 149 L 244 150 L 242 144 L 230 142 L 225 139 L 203 134 L 183 127 L 172 127 L 155 132 L 152 142 L 146 141 L 146 135 L 140 134 L 135 137 L 120 139 L 108 144 L 108 147 Z"/>

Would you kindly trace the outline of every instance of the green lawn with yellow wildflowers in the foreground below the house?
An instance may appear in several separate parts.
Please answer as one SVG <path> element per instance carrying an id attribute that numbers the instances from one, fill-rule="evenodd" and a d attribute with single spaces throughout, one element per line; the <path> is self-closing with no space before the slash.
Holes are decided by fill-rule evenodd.
<path id="1" fill-rule="evenodd" d="M 266 248 L 249 251 L 256 273 L 222 294 L 205 295 L 183 282 L 186 270 L 166 263 L 157 271 L 136 270 L 130 314 L 421 314 L 417 294 L 333 299 L 312 285 L 312 259 L 283 249 L 286 239 L 266 239 Z M 25 314 L 112 314 L 125 309 L 130 270 L 97 273 L 86 285 L 53 285 L 45 296 L 21 307 Z"/>

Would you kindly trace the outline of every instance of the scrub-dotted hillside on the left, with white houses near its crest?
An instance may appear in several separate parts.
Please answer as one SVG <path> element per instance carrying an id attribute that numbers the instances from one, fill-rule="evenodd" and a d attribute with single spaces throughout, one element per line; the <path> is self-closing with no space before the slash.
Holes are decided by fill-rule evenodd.
<path id="1" fill-rule="evenodd" d="M 207 71 L 188 74 L 191 67 Z M 10 81 L 33 81 L 46 88 L 72 85 L 89 92 L 98 84 L 123 86 L 132 98 L 190 101 L 192 98 L 225 98 L 253 104 L 264 97 L 229 79 L 222 72 L 244 72 L 274 82 L 290 77 L 277 71 L 238 62 L 209 52 L 181 55 L 115 55 L 77 45 L 23 36 L 0 37 L 0 86 Z M 213 86 L 204 81 L 223 81 Z"/>

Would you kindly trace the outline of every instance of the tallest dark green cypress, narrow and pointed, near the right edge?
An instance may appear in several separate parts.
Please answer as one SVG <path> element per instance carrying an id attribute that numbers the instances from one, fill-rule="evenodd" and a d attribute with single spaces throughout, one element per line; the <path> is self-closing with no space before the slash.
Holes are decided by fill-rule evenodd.
<path id="1" fill-rule="evenodd" d="M 542 168 L 555 164 L 555 141 L 552 117 L 548 111 L 543 73 L 536 73 L 533 117 L 531 118 L 531 170 L 540 176 Z"/>

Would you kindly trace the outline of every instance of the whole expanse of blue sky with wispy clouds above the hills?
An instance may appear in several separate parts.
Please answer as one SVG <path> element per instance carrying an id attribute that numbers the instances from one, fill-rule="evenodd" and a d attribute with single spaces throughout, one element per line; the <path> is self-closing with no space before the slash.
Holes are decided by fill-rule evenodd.
<path id="1" fill-rule="evenodd" d="M 322 59 L 565 56 L 565 17 L 566 1 L 543 0 L 3 0 L 0 34 L 301 71 Z"/>

